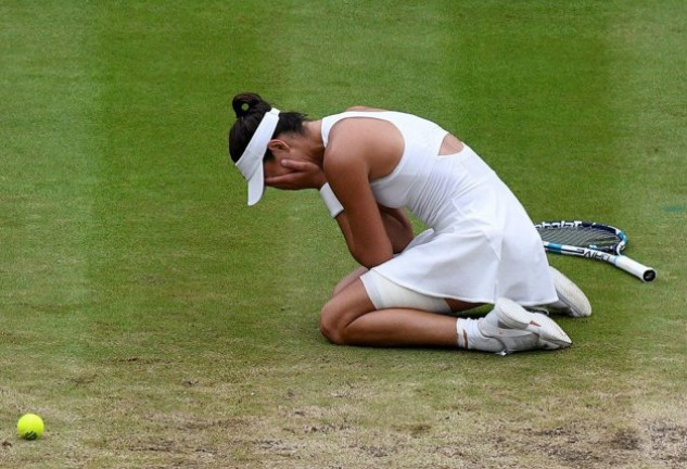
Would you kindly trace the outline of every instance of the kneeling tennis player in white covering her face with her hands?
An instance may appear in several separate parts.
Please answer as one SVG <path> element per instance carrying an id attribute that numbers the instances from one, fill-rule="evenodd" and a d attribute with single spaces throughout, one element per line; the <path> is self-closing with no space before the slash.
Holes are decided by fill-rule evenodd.
<path id="1" fill-rule="evenodd" d="M 421 117 L 356 106 L 311 121 L 255 93 L 233 98 L 231 160 L 249 205 L 266 186 L 316 189 L 360 268 L 334 289 L 320 330 L 334 344 L 556 350 L 570 338 L 537 308 L 591 314 L 549 267 L 508 187 L 466 143 Z M 415 237 L 404 211 L 428 229 Z M 488 304 L 482 318 L 457 317 Z"/>

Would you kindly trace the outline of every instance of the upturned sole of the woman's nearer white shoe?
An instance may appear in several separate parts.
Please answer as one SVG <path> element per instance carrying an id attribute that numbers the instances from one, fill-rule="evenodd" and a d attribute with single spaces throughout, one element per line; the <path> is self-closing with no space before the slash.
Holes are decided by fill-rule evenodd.
<path id="1" fill-rule="evenodd" d="M 495 306 L 499 322 L 511 329 L 536 333 L 544 342 L 543 348 L 564 348 L 572 345 L 565 331 L 548 316 L 540 313 L 529 313 L 518 303 L 508 299 L 499 299 Z"/>

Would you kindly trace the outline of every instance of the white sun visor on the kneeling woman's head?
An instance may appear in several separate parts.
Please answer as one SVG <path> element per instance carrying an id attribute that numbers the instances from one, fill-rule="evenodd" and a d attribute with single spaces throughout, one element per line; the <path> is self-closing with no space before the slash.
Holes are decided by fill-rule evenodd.
<path id="1" fill-rule="evenodd" d="M 279 110 L 272 107 L 265 113 L 249 145 L 237 162 L 237 167 L 249 182 L 249 205 L 255 205 L 265 192 L 265 176 L 263 174 L 263 157 L 267 151 L 267 143 L 272 138 L 279 123 Z"/>

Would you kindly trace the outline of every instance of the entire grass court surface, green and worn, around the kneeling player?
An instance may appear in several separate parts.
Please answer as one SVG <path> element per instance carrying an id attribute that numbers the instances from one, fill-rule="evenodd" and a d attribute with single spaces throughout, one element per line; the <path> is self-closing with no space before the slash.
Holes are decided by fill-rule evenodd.
<path id="1" fill-rule="evenodd" d="M 403 4 L 398 4 L 403 3 Z M 0 4 L 0 467 L 682 467 L 679 1 Z M 355 267 L 315 193 L 245 206 L 231 97 L 415 112 L 534 219 L 624 228 L 659 280 L 551 257 L 570 350 L 335 347 Z M 673 239 L 660 241 L 660 233 Z M 44 438 L 15 434 L 21 414 Z"/>

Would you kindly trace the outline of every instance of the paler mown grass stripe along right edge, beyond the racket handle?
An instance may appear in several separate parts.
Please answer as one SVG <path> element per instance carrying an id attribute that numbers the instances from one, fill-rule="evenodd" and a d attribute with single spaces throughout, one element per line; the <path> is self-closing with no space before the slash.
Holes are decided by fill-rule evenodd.
<path id="1" fill-rule="evenodd" d="M 687 383 L 687 266 L 679 254 L 687 242 L 677 234 L 687 217 L 665 206 L 687 201 L 682 170 L 687 149 L 686 17 L 684 2 L 633 2 L 632 9 L 618 12 L 607 36 L 616 58 L 611 102 L 621 162 L 616 200 L 629 238 L 627 254 L 658 274 L 651 284 L 632 278 L 616 283 L 623 292 L 616 318 L 631 328 L 626 347 L 636 364 L 634 427 L 644 439 L 657 439 L 656 428 L 685 428 L 675 409 L 684 405 Z M 669 446 L 663 444 L 664 454 L 674 451 Z"/>

